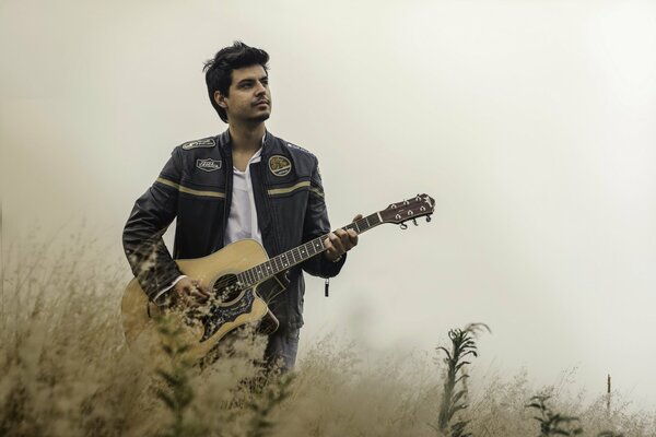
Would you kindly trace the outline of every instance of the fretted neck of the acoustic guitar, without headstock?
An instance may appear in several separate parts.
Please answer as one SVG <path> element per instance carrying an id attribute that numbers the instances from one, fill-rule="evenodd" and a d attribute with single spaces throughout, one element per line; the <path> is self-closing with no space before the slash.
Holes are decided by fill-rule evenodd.
<path id="1" fill-rule="evenodd" d="M 353 229 L 358 234 L 362 234 L 373 227 L 384 223 L 378 212 L 367 215 L 366 217 L 360 218 L 353 223 L 349 223 L 343 226 L 342 229 Z M 237 280 L 243 284 L 244 287 L 248 288 L 262 281 L 268 280 L 278 273 L 284 272 L 294 265 L 297 265 L 312 257 L 315 257 L 326 250 L 324 240 L 328 237 L 328 234 L 309 240 L 298 247 L 295 247 L 286 252 L 280 253 L 270 260 L 262 262 L 256 267 L 243 271 L 237 274 Z"/>

